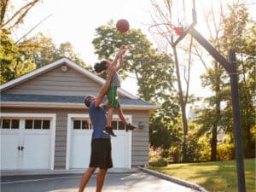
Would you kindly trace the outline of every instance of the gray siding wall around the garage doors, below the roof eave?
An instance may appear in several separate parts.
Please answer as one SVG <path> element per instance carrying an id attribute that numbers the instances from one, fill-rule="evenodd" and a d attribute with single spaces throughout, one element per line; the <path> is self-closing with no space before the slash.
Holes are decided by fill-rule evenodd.
<path id="1" fill-rule="evenodd" d="M 88 113 L 87 109 L 63 108 L 1 108 L 2 113 L 56 113 L 55 129 L 55 169 L 65 169 L 67 150 L 67 114 Z M 131 114 L 132 124 L 142 122 L 143 129 L 132 131 L 131 138 L 131 166 L 148 164 L 148 111 L 124 110 Z"/>

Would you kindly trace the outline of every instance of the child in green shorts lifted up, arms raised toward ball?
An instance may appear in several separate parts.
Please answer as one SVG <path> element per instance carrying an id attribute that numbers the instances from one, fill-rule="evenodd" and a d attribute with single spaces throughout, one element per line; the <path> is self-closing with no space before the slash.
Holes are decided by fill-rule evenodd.
<path id="1" fill-rule="evenodd" d="M 125 119 L 123 111 L 120 108 L 119 97 L 117 95 L 117 89 L 120 87 L 120 79 L 117 72 L 119 71 L 120 68 L 123 67 L 123 64 L 124 64 L 123 55 L 125 54 L 126 50 L 127 50 L 127 46 L 122 45 L 113 61 L 108 61 L 108 60 L 101 61 L 100 63 L 96 63 L 94 66 L 96 73 L 102 73 L 102 71 L 108 70 L 109 68 L 114 68 L 116 72 L 115 75 L 113 75 L 113 79 L 108 88 L 108 93 L 107 93 L 108 100 L 106 102 L 106 105 L 108 106 L 108 121 L 104 130 L 106 133 L 108 133 L 108 135 L 111 135 L 113 137 L 116 137 L 116 135 L 113 133 L 113 126 L 111 124 L 113 119 L 114 108 L 118 109 L 119 118 L 125 124 L 125 131 L 134 130 L 137 128 L 136 126 L 133 126 L 130 123 L 128 123 L 127 120 Z M 118 60 L 119 60 L 119 66 L 116 67 L 116 63 Z"/>

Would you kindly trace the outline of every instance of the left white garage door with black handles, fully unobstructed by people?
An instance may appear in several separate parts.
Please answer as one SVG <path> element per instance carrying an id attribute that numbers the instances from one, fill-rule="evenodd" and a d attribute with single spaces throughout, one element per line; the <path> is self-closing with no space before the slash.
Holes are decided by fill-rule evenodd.
<path id="1" fill-rule="evenodd" d="M 1 117 L 1 170 L 51 169 L 52 119 Z"/>

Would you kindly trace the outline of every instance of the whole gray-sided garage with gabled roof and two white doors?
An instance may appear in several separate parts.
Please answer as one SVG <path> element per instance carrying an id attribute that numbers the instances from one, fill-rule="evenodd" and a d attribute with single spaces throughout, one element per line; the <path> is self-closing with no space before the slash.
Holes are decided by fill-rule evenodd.
<path id="1" fill-rule="evenodd" d="M 1 170 L 69 170 L 89 166 L 90 125 L 84 96 L 97 95 L 105 80 L 61 58 L 0 84 Z M 135 131 L 125 132 L 113 116 L 113 166 L 148 164 L 149 113 L 158 106 L 119 89 L 125 117 Z"/>

